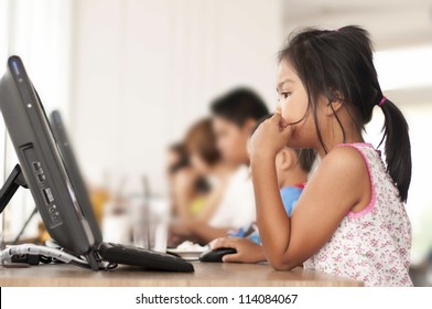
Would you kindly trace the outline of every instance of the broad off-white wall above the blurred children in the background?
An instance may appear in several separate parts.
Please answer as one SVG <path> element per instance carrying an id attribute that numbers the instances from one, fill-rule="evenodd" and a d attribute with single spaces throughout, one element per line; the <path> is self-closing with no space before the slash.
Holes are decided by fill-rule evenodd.
<path id="1" fill-rule="evenodd" d="M 150 175 L 169 142 L 237 86 L 274 105 L 281 1 L 75 1 L 69 127 L 91 183 Z"/>

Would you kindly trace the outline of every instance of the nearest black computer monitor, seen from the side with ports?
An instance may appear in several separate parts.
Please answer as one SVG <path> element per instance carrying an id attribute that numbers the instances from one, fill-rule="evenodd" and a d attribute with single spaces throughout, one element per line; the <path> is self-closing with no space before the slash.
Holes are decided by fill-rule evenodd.
<path id="1" fill-rule="evenodd" d="M 0 109 L 51 237 L 66 251 L 85 256 L 90 267 L 98 269 L 94 247 L 100 232 L 95 235 L 90 227 L 88 213 L 80 204 L 83 199 L 76 196 L 42 103 L 18 56 L 8 60 L 0 81 Z"/>

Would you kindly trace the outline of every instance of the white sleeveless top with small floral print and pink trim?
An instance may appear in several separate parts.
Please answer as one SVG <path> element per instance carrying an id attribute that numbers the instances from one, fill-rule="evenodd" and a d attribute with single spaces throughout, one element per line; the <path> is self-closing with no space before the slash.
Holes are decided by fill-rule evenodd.
<path id="1" fill-rule="evenodd" d="M 332 238 L 304 267 L 361 280 L 365 286 L 412 286 L 408 274 L 411 224 L 379 152 L 370 143 L 338 147 L 354 147 L 363 156 L 371 199 L 364 210 L 343 219 Z"/>

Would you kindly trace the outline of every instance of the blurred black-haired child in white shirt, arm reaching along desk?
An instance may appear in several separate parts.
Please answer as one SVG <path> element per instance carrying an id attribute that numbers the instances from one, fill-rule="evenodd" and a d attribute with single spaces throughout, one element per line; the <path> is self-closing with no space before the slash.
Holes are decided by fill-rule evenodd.
<path id="1" fill-rule="evenodd" d="M 247 141 L 257 121 L 268 115 L 262 99 L 252 90 L 237 88 L 212 104 L 213 130 L 222 160 L 235 168 L 219 205 L 207 222 L 188 222 L 172 228 L 179 238 L 201 244 L 227 235 L 255 221 L 253 189 L 248 171 Z"/>

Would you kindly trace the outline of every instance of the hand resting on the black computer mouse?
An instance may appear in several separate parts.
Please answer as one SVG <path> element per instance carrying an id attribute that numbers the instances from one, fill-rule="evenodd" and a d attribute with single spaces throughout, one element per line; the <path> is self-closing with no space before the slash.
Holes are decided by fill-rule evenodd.
<path id="1" fill-rule="evenodd" d="M 258 263 L 266 259 L 262 246 L 253 243 L 247 238 L 239 237 L 223 237 L 217 238 L 212 244 L 212 249 L 217 248 L 234 248 L 236 254 L 227 254 L 223 257 L 225 263 Z"/>

